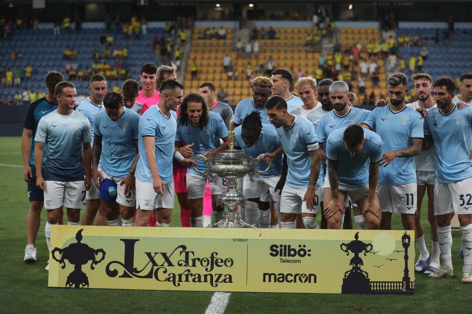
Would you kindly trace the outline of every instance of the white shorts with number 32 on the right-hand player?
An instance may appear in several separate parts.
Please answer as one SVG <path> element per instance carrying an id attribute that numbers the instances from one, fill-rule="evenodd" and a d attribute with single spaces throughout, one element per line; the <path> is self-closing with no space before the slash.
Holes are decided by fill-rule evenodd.
<path id="1" fill-rule="evenodd" d="M 434 215 L 472 214 L 472 177 L 453 183 L 434 183 Z"/>

